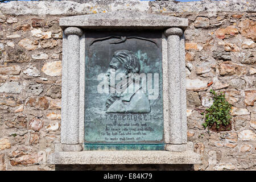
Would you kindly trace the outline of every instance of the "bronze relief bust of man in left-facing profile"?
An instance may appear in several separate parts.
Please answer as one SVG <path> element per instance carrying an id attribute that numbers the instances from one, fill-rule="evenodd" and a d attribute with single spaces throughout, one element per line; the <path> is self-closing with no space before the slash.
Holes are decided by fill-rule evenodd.
<path id="1" fill-rule="evenodd" d="M 114 52 L 106 76 L 109 86 L 114 86 L 115 92 L 110 93 L 106 100 L 106 113 L 150 113 L 147 94 L 142 90 L 139 81 L 135 81 L 135 75 L 138 75 L 140 71 L 141 64 L 133 52 L 127 50 Z M 125 79 L 122 80 L 127 81 L 121 82 L 121 86 L 120 82 L 114 82 L 114 85 L 111 85 L 113 81 L 111 79 L 115 79 L 111 77 L 112 74 L 123 75 Z"/>

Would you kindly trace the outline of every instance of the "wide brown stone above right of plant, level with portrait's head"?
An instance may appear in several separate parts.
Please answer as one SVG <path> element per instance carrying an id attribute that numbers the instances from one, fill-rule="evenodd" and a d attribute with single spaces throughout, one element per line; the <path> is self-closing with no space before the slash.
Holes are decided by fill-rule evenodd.
<path id="1" fill-rule="evenodd" d="M 232 61 L 225 61 L 219 64 L 220 75 L 245 75 L 246 67 L 243 65 L 232 63 Z"/>

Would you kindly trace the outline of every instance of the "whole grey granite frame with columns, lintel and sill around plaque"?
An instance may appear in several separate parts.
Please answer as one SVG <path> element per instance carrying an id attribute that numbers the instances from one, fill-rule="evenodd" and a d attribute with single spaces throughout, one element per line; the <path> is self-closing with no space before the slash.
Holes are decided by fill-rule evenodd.
<path id="1" fill-rule="evenodd" d="M 134 11 L 60 18 L 60 27 L 64 30 L 61 143 L 55 145 L 55 153 L 49 156 L 48 163 L 201 163 L 200 155 L 193 152 L 193 144 L 187 143 L 184 43 L 184 30 L 187 26 L 188 20 L 184 18 Z M 85 34 L 86 30 L 99 29 L 163 31 L 163 108 L 166 151 L 82 151 L 84 148 Z M 103 162 L 101 160 L 99 163 L 98 159 L 105 159 L 105 156 L 108 156 L 108 159 Z M 141 160 L 142 156 L 145 157 L 144 162 Z"/>

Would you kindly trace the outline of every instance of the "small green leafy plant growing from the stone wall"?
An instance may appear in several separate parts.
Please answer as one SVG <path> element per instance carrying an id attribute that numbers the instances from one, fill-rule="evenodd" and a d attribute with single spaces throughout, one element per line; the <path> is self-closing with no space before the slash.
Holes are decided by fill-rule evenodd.
<path id="1" fill-rule="evenodd" d="M 225 94 L 220 92 L 217 94 L 214 90 L 210 90 L 213 94 L 213 104 L 201 114 L 205 114 L 205 122 L 202 124 L 205 128 L 210 128 L 216 123 L 216 128 L 220 126 L 227 126 L 231 121 L 231 107 L 232 105 L 226 101 Z"/>

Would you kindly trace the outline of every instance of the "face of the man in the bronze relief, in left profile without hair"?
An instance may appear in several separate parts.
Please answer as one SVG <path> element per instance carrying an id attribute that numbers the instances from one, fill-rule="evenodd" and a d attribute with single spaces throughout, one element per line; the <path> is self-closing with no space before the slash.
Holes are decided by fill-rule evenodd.
<path id="1" fill-rule="evenodd" d="M 109 69 L 106 72 L 106 76 L 108 76 L 109 86 L 116 86 L 117 81 L 115 81 L 115 77 L 124 77 L 127 75 L 127 70 L 125 68 L 125 64 L 122 64 L 115 57 L 109 63 Z"/>

